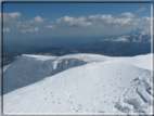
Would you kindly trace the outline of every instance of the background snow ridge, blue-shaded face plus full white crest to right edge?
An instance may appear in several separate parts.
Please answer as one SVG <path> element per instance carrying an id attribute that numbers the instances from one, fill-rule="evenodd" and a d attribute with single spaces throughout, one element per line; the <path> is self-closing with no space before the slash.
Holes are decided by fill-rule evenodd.
<path id="1" fill-rule="evenodd" d="M 64 56 L 42 56 L 23 54 L 8 66 L 3 74 L 4 93 L 31 85 L 46 77 L 55 75 L 65 69 L 81 66 L 87 63 L 123 63 L 151 69 L 151 54 L 134 57 L 104 56 L 98 54 L 69 54 Z M 142 63 L 141 63 L 142 62 Z M 11 81 L 10 81 L 11 80 Z"/>

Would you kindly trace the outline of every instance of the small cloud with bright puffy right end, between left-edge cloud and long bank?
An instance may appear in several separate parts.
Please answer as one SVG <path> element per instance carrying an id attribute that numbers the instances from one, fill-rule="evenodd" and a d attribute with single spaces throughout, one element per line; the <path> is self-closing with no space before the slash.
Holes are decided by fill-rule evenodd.
<path id="1" fill-rule="evenodd" d="M 16 27 L 30 27 L 35 24 L 43 23 L 47 20 L 48 18 L 41 18 L 40 16 L 36 16 L 31 21 L 27 21 L 27 22 L 24 22 L 24 23 L 22 23 L 22 22 L 16 23 Z"/>

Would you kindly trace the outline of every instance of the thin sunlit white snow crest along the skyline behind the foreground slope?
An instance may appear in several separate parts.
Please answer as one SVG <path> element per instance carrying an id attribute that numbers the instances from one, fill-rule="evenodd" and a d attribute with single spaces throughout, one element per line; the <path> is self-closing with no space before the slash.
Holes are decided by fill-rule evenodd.
<path id="1" fill-rule="evenodd" d="M 113 63 L 119 63 L 123 62 L 124 64 L 131 64 L 138 67 L 143 67 L 146 69 L 152 69 L 151 64 L 154 54 L 142 54 L 137 56 L 105 56 L 100 54 L 89 54 L 89 53 L 76 53 L 76 54 L 67 54 L 63 56 L 44 56 L 44 55 L 29 55 L 29 54 L 23 54 L 22 56 L 26 57 L 34 57 L 35 60 L 39 61 L 48 61 L 48 60 L 56 60 L 62 61 L 65 59 L 77 59 L 85 62 L 104 62 L 104 61 L 112 61 Z M 146 62 L 149 61 L 149 62 Z M 142 63 L 140 63 L 142 62 Z"/>

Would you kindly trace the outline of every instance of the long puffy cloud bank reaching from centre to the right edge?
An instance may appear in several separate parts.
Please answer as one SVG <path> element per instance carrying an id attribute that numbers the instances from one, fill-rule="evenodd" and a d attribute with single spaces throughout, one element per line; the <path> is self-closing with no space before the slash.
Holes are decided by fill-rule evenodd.
<path id="1" fill-rule="evenodd" d="M 132 29 L 149 29 L 151 27 L 151 17 L 136 18 L 136 15 L 130 12 L 121 13 L 117 16 L 112 15 L 90 15 L 70 17 L 64 16 L 51 22 L 52 24 L 60 24 L 65 27 L 91 27 L 93 29 L 103 29 L 105 27 L 120 27 Z M 143 33 L 142 33 L 143 34 Z"/>

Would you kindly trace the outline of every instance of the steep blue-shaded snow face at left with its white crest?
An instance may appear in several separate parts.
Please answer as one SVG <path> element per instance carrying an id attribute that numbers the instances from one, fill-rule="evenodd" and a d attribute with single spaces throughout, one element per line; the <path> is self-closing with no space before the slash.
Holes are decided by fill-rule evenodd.
<path id="1" fill-rule="evenodd" d="M 55 57 L 22 55 L 3 73 L 3 91 L 4 93 L 8 93 L 15 89 L 37 82 L 48 76 L 55 75 L 65 69 L 80 66 L 86 63 L 86 61 L 74 56 Z"/>

